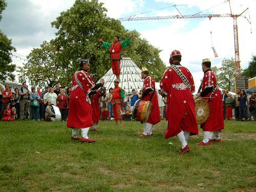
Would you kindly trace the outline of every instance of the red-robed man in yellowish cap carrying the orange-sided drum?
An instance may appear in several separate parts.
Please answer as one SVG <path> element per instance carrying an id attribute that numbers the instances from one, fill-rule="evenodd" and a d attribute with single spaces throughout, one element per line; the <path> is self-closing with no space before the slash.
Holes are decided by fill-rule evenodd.
<path id="1" fill-rule="evenodd" d="M 157 92 L 155 90 L 155 79 L 151 76 L 148 76 L 148 70 L 142 68 L 141 78 L 144 79 L 142 94 L 139 95 L 139 99 L 144 101 L 151 101 L 152 108 L 150 117 L 146 122 L 140 121 L 143 123 L 143 134 L 140 137 L 153 136 L 152 127 L 154 124 L 161 121 L 159 105 L 157 100 Z"/>

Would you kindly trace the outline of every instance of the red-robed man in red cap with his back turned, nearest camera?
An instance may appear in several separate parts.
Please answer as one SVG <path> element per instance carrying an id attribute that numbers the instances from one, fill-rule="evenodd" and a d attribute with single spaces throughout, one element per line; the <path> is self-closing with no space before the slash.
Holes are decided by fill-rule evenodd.
<path id="1" fill-rule="evenodd" d="M 178 153 L 184 153 L 189 151 L 189 135 L 198 134 L 195 101 L 192 95 L 195 92 L 195 84 L 188 69 L 180 65 L 180 51 L 174 50 L 170 56 L 173 63 L 170 62 L 172 65 L 165 70 L 160 81 L 160 88 L 167 96 L 165 115 L 168 118 L 165 139 L 177 136 L 182 144 Z"/>

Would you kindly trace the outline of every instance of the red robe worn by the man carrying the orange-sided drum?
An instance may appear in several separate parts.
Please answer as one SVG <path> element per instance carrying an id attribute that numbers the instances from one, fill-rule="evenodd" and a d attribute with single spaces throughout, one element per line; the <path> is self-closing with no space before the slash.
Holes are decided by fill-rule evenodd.
<path id="1" fill-rule="evenodd" d="M 150 89 L 152 91 L 149 94 L 147 94 L 146 96 L 144 96 L 142 98 L 142 100 L 149 101 L 151 95 L 154 94 L 151 99 L 152 108 L 151 108 L 150 117 L 146 121 L 146 122 L 152 123 L 152 124 L 156 124 L 161 121 L 159 105 L 158 105 L 158 100 L 157 100 L 157 92 L 156 92 L 156 90 L 154 91 L 154 88 L 155 88 L 155 79 L 151 76 L 145 77 L 144 83 L 143 83 L 142 94 L 147 89 Z M 143 121 L 140 121 L 140 122 L 143 123 Z"/>

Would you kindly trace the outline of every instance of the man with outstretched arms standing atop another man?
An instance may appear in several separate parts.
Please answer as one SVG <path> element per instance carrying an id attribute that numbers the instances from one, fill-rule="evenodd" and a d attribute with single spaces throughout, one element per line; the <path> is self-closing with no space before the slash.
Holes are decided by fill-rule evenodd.
<path id="1" fill-rule="evenodd" d="M 109 42 L 105 42 L 102 40 L 102 38 L 98 38 L 98 40 L 100 42 L 103 42 L 103 46 L 106 49 L 110 50 L 110 60 L 112 63 L 112 71 L 113 73 L 116 75 L 116 81 L 120 81 L 120 72 L 121 72 L 121 68 L 120 68 L 120 51 L 123 47 L 127 46 L 130 44 L 131 40 L 130 38 L 133 36 L 133 33 L 130 35 L 129 38 L 126 38 L 123 41 L 119 41 L 119 37 L 115 36 L 114 38 L 114 42 L 109 43 Z"/>

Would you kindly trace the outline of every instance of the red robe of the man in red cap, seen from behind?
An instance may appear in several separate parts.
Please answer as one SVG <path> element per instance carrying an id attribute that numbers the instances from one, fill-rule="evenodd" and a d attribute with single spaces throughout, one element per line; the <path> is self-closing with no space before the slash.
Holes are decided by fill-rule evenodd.
<path id="1" fill-rule="evenodd" d="M 190 132 L 190 135 L 198 134 L 195 101 L 192 95 L 195 92 L 194 79 L 185 67 L 176 67 L 186 76 L 191 91 L 174 69 L 165 70 L 160 81 L 160 88 L 167 94 L 165 115 L 168 127 L 165 139 L 178 135 L 182 130 Z"/>

